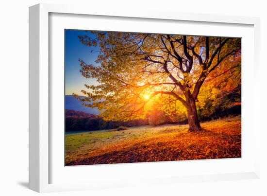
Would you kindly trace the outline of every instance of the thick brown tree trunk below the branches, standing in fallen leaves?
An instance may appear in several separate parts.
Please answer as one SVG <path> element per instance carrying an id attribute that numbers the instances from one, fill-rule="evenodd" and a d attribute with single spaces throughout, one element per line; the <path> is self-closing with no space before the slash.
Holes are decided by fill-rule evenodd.
<path id="1" fill-rule="evenodd" d="M 196 101 L 193 98 L 189 98 L 187 106 L 187 118 L 189 124 L 189 130 L 199 131 L 200 130 L 200 121 L 198 118 Z"/>

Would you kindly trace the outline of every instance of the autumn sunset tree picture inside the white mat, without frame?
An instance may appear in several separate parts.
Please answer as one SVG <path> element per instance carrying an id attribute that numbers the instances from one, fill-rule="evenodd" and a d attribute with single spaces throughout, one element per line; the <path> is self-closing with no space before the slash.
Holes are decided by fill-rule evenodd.
<path id="1" fill-rule="evenodd" d="M 241 37 L 64 39 L 65 166 L 241 158 Z"/>

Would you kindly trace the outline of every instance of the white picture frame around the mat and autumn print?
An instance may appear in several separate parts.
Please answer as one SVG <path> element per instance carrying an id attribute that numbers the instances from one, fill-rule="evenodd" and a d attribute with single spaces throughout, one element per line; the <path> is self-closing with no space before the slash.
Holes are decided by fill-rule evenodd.
<path id="1" fill-rule="evenodd" d="M 103 183 L 89 183 L 90 177 L 82 177 L 81 172 L 84 172 L 87 166 L 79 167 L 77 174 L 80 175 L 81 181 L 75 182 L 64 182 L 62 179 L 56 180 L 54 183 L 51 179 L 53 173 L 58 171 L 59 168 L 55 167 L 53 161 L 55 156 L 52 156 L 54 145 L 51 136 L 56 137 L 50 131 L 52 130 L 51 119 L 50 119 L 50 110 L 51 106 L 51 86 L 54 84 L 51 81 L 51 71 L 54 71 L 50 67 L 53 64 L 53 59 L 51 58 L 50 46 L 53 45 L 53 40 L 50 40 L 50 15 L 53 13 L 57 14 L 71 14 L 69 17 L 73 17 L 75 14 L 77 16 L 105 16 L 106 18 L 123 18 L 124 20 L 138 20 L 141 19 L 146 22 L 151 22 L 152 20 L 161 20 L 161 22 L 168 21 L 183 21 L 186 22 L 199 22 L 199 23 L 211 23 L 211 24 L 228 24 L 230 26 L 238 25 L 250 25 L 253 31 L 253 52 L 254 58 L 252 60 L 252 76 L 254 78 L 259 77 L 259 45 L 260 45 L 260 20 L 259 18 L 252 17 L 237 17 L 237 16 L 221 16 L 221 15 L 203 15 L 203 14 L 185 14 L 177 12 L 166 12 L 164 10 L 121 10 L 121 9 L 91 9 L 88 11 L 86 7 L 76 6 L 76 5 L 57 5 L 57 4 L 37 4 L 29 8 L 29 187 L 30 189 L 37 192 L 55 192 L 55 191 L 73 191 L 73 190 L 84 190 L 84 189 L 94 189 L 94 188 L 118 188 L 126 186 L 142 186 L 142 185 L 159 185 L 159 184 L 168 184 L 168 183 L 179 183 L 179 182 L 200 182 L 200 181 L 214 181 L 214 180 L 232 180 L 232 179 L 251 179 L 259 178 L 260 176 L 260 157 L 257 152 L 260 152 L 260 118 L 256 117 L 256 113 L 260 113 L 260 97 L 253 93 L 251 95 L 253 99 L 253 107 L 247 113 L 251 113 L 254 117 L 251 122 L 248 122 L 245 125 L 250 125 L 253 132 L 250 137 L 246 136 L 247 139 L 251 140 L 253 143 L 253 158 L 249 158 L 250 167 L 243 169 L 242 171 L 229 170 L 224 172 L 223 170 L 216 172 L 206 173 L 194 173 L 188 175 L 152 175 L 152 173 L 145 173 L 140 178 L 138 175 L 134 176 L 134 173 L 131 173 L 130 170 L 134 169 L 143 169 L 143 171 L 149 171 L 150 168 L 153 169 L 163 169 L 166 167 L 165 163 L 136 163 L 132 164 L 131 167 L 128 167 L 127 164 L 113 164 L 113 166 L 101 165 L 91 166 L 95 171 L 105 171 L 107 174 L 112 175 L 113 171 L 121 173 L 117 178 L 107 178 Z M 67 16 L 67 15 L 66 15 Z M 78 17 L 79 18 L 79 17 Z M 84 17 L 83 17 L 84 18 Z M 82 21 L 82 20 L 81 20 Z M 69 20 L 70 22 L 70 20 Z M 82 26 L 81 26 L 82 27 Z M 64 28 L 64 26 L 62 26 Z M 78 26 L 76 27 L 78 28 Z M 83 28 L 83 27 L 82 27 Z M 85 27 L 84 27 L 85 28 Z M 215 35 L 214 35 L 215 36 Z M 61 40 L 62 41 L 62 40 Z M 55 42 L 57 44 L 57 42 Z M 243 45 L 242 45 L 243 46 Z M 251 50 L 251 49 L 250 49 Z M 54 51 L 54 50 L 53 50 Z M 243 53 L 243 52 L 242 52 Z M 61 57 L 59 57 L 61 61 Z M 243 63 L 243 62 L 242 62 Z M 242 64 L 243 66 L 243 64 Z M 243 68 L 242 68 L 243 69 Z M 243 74 L 243 72 L 242 72 Z M 242 81 L 243 82 L 243 81 Z M 243 88 L 243 87 L 242 87 Z M 254 86 L 253 91 L 260 91 L 260 85 Z M 243 100 L 243 97 L 242 97 Z M 54 106 L 54 105 L 53 105 Z M 242 107 L 243 101 L 242 101 Z M 242 113 L 243 120 L 243 113 Z M 242 129 L 244 124 L 242 122 Z M 62 135 L 61 135 L 62 136 Z M 60 137 L 57 136 L 57 137 Z M 64 137 L 64 136 L 63 136 Z M 242 135 L 243 137 L 243 135 Z M 245 138 L 246 139 L 246 138 Z M 54 140 L 54 139 L 53 139 Z M 242 138 L 243 145 L 243 138 Z M 62 147 L 62 146 L 61 146 Z M 242 150 L 243 150 L 242 146 Z M 59 150 L 59 152 L 62 152 Z M 243 151 L 242 151 L 243 153 Z M 251 154 L 251 153 L 250 153 Z M 243 159 L 244 160 L 244 159 Z M 234 160 L 233 162 L 228 162 L 225 160 L 220 160 L 220 164 L 235 164 L 238 167 L 238 164 L 243 164 L 243 160 Z M 57 160 L 54 160 L 57 161 Z M 188 162 L 181 162 L 182 164 L 194 164 L 194 165 L 204 165 L 209 164 L 210 166 L 215 165 L 216 161 L 212 160 L 210 162 L 204 162 L 201 160 Z M 59 161 L 57 161 L 59 162 Z M 243 161 L 244 162 L 244 161 Z M 251 166 L 253 162 L 253 166 Z M 57 164 L 57 163 L 56 163 Z M 168 163 L 168 167 L 175 167 L 177 164 L 176 161 Z M 63 167 L 61 173 L 64 171 L 64 165 L 58 164 L 59 167 Z M 201 166 L 200 166 L 201 167 Z M 249 168 L 249 169 L 248 169 Z M 111 170 L 110 170 L 111 169 Z M 59 169 L 60 170 L 60 169 Z M 70 170 L 70 169 L 69 169 Z M 69 171 L 66 171 L 69 172 Z M 72 171 L 70 171 L 72 172 Z M 73 169 L 73 172 L 74 171 Z M 72 173 L 73 173 L 72 172 Z M 109 173 L 110 172 L 110 173 Z M 127 180 L 121 178 L 125 173 L 129 172 L 129 178 Z M 168 171 L 166 171 L 167 173 Z M 69 174 L 69 173 L 68 173 Z M 101 174 L 105 175 L 105 174 Z M 64 176 L 64 175 L 63 175 Z M 131 179 L 133 178 L 133 179 Z M 138 180 L 136 180 L 136 178 Z M 87 180 L 86 180 L 87 179 Z M 62 182 L 61 182 L 62 180 Z M 99 179 L 101 180 L 101 179 Z"/>

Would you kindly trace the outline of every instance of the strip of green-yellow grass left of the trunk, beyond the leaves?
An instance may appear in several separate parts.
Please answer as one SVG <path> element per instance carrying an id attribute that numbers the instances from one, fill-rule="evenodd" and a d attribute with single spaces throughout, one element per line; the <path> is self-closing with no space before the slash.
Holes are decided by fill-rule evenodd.
<path id="1" fill-rule="evenodd" d="M 138 140 L 140 138 L 154 135 L 156 133 L 166 133 L 166 131 L 179 131 L 180 127 L 182 128 L 187 126 L 188 125 L 145 125 L 121 131 L 111 129 L 105 131 L 100 130 L 93 132 L 67 134 L 65 136 L 66 158 L 71 159 L 71 157 L 75 157 L 77 155 L 86 155 L 88 152 L 98 149 L 107 144 L 117 143 L 125 140 Z"/>

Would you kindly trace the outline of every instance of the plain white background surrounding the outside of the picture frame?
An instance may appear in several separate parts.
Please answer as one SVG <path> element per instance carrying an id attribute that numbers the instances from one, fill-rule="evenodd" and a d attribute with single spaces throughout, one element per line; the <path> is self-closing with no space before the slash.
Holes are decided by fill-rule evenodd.
<path id="1" fill-rule="evenodd" d="M 121 9 L 166 7 L 177 12 L 253 16 L 261 18 L 261 78 L 251 81 L 266 88 L 267 5 L 264 0 L 5 0 L 0 3 L 0 195 L 34 196 L 28 186 L 28 7 L 37 3 L 77 3 L 119 6 Z M 251 51 L 252 52 L 252 51 Z M 262 90 L 262 130 L 266 126 L 266 95 Z M 259 115 L 260 117 L 260 115 Z M 111 189 L 45 195 L 267 195 L 267 134 L 262 133 L 261 179 L 223 182 L 183 183 L 142 189 Z"/>

